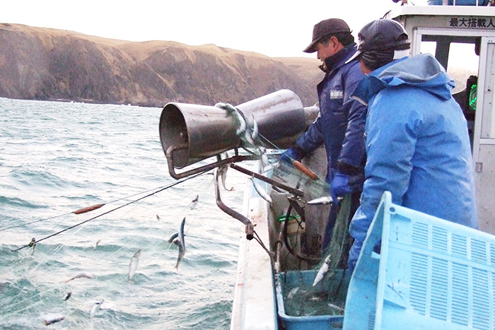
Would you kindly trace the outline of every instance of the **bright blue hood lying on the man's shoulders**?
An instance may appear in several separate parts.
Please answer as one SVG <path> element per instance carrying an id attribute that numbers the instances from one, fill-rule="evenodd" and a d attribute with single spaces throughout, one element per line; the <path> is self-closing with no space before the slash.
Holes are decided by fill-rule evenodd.
<path id="1" fill-rule="evenodd" d="M 397 59 L 371 72 L 359 83 L 351 98 L 368 105 L 380 90 L 397 86 L 414 86 L 448 100 L 455 83 L 431 54 L 419 54 Z"/>

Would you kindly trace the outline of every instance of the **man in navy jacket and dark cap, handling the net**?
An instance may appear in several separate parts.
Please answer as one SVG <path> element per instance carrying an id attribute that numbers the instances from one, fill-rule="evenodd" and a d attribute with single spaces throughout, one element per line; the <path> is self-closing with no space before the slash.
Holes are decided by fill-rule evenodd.
<path id="1" fill-rule="evenodd" d="M 325 72 L 325 78 L 317 86 L 320 114 L 280 159 L 291 164 L 325 144 L 326 180 L 333 199 L 322 242 L 322 251 L 325 252 L 337 218 L 337 198 L 351 195 L 350 216 L 359 206 L 365 163 L 363 131 L 366 106 L 351 100 L 349 95 L 363 78 L 363 73 L 359 61 L 348 61 L 356 52 L 356 43 L 349 25 L 339 18 L 316 24 L 313 40 L 303 52 L 317 52 L 322 61 L 320 69 Z"/>

